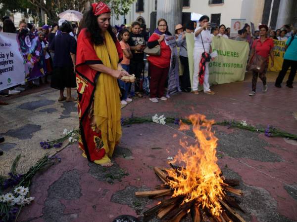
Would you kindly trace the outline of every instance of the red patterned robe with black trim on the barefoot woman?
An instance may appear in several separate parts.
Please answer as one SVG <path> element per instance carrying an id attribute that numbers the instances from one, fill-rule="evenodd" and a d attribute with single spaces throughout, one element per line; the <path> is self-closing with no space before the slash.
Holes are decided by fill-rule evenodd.
<path id="1" fill-rule="evenodd" d="M 118 40 L 115 41 L 119 61 L 123 59 L 122 49 Z M 91 127 L 94 93 L 99 72 L 91 69 L 89 65 L 102 64 L 96 55 L 94 44 L 87 29 L 81 30 L 77 39 L 76 53 L 76 83 L 78 94 L 79 116 L 79 146 L 85 151 L 89 161 L 99 160 L 105 155 L 105 149 L 101 139 L 101 133 L 97 133 Z"/>

